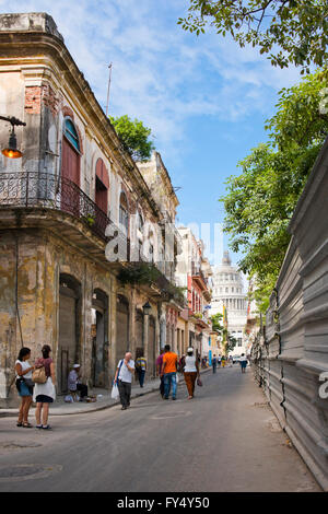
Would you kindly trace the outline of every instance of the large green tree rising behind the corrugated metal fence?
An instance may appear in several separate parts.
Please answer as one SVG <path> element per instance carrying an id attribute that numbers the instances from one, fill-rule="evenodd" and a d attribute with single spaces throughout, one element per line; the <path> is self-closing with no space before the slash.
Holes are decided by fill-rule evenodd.
<path id="1" fill-rule="evenodd" d="M 255 277 L 261 311 L 268 306 L 289 242 L 288 225 L 328 132 L 320 73 L 283 89 L 277 114 L 267 121 L 270 138 L 238 163 L 227 179 L 224 230 L 244 273 Z M 328 93 L 328 92 L 327 92 Z"/>

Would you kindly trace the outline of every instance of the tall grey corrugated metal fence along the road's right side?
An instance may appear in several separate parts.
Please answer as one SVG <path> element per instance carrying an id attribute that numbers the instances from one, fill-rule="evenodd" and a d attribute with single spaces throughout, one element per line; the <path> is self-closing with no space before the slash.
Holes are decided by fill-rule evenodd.
<path id="1" fill-rule="evenodd" d="M 328 372 L 328 140 L 289 230 L 253 366 L 282 428 L 328 491 L 328 398 L 319 393 Z"/>

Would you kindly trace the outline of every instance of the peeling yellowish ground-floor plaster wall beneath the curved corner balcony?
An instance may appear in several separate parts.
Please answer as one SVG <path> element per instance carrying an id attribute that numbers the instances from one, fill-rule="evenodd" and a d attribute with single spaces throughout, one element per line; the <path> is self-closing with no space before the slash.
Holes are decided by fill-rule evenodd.
<path id="1" fill-rule="evenodd" d="M 0 242 L 0 397 L 2 398 L 7 397 L 7 389 L 13 378 L 14 362 L 22 346 L 15 312 L 16 280 L 23 346 L 31 348 L 31 360 L 34 361 L 39 357 L 43 344 L 49 344 L 52 349 L 52 359 L 58 365 L 60 273 L 70 274 L 81 283 L 79 358 L 84 378 L 86 381 L 91 378 L 92 296 L 94 290 L 99 289 L 108 295 L 110 305 L 110 273 L 43 231 L 5 232 L 2 233 Z M 109 309 L 107 341 L 113 324 L 115 325 L 115 319 L 110 317 Z M 109 373 L 113 375 L 113 350 L 109 351 L 108 361 Z M 14 386 L 11 388 L 12 394 L 15 394 Z"/>

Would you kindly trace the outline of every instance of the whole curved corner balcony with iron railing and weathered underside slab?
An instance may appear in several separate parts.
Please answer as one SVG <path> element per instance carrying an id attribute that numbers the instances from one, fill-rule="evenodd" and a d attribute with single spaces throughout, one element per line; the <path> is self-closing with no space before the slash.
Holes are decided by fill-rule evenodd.
<path id="1" fill-rule="evenodd" d="M 110 235 L 106 229 L 112 227 Z M 129 260 L 130 241 L 106 213 L 68 178 L 49 173 L 0 174 L 0 229 L 44 229 L 84 253 L 109 265 L 106 244 L 117 237 L 122 258 L 110 262 L 119 268 Z"/>

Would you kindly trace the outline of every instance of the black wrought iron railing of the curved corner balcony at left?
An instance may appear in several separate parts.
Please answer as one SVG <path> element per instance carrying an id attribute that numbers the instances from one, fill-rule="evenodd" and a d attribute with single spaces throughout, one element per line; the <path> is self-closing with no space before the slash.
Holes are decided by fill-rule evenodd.
<path id="1" fill-rule="evenodd" d="M 77 184 L 49 173 L 1 173 L 0 208 L 5 207 L 40 207 L 67 212 L 103 240 L 108 240 L 106 227 L 113 225 L 106 213 Z"/>

